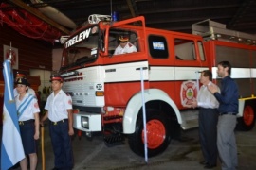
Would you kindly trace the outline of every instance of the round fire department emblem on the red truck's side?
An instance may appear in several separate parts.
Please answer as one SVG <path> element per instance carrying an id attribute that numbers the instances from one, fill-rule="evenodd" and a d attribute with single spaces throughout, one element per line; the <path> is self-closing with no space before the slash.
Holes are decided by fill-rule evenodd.
<path id="1" fill-rule="evenodd" d="M 183 107 L 196 99 L 197 89 L 195 81 L 184 81 L 180 88 L 180 99 Z"/>

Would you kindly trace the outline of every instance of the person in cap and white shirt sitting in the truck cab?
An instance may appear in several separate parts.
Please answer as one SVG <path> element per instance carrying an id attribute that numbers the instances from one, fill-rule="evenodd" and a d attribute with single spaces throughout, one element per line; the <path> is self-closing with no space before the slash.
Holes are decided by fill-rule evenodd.
<path id="1" fill-rule="evenodd" d="M 137 52 L 136 46 L 128 41 L 128 36 L 119 36 L 119 46 L 116 48 L 114 55 Z"/>

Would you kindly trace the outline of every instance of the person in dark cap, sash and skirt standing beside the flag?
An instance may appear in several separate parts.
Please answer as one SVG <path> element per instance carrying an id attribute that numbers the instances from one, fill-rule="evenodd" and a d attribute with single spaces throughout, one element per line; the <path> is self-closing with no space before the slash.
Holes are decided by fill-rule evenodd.
<path id="1" fill-rule="evenodd" d="M 19 127 L 24 152 L 29 157 L 30 170 L 37 166 L 37 141 L 39 139 L 39 106 L 34 95 L 27 93 L 26 78 L 15 81 L 18 95 L 15 97 Z M 27 170 L 27 157 L 20 161 L 22 170 Z"/>

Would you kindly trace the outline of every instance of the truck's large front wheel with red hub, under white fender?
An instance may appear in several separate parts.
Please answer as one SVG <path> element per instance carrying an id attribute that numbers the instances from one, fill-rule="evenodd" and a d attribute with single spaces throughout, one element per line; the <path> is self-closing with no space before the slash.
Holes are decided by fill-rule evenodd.
<path id="1" fill-rule="evenodd" d="M 167 116 L 160 110 L 147 110 L 148 157 L 163 152 L 171 141 Z M 139 156 L 144 156 L 144 127 L 142 113 L 137 117 L 136 131 L 128 135 L 130 148 Z"/>

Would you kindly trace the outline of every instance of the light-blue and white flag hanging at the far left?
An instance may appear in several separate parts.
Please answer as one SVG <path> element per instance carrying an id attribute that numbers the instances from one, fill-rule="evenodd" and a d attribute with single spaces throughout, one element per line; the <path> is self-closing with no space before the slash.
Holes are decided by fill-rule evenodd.
<path id="1" fill-rule="evenodd" d="M 20 127 L 13 95 L 13 74 L 10 61 L 4 61 L 5 95 L 3 108 L 3 134 L 1 144 L 1 170 L 7 170 L 25 158 Z"/>

